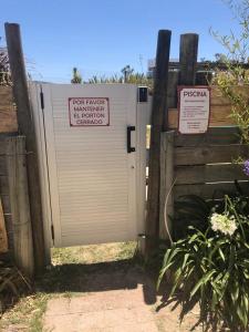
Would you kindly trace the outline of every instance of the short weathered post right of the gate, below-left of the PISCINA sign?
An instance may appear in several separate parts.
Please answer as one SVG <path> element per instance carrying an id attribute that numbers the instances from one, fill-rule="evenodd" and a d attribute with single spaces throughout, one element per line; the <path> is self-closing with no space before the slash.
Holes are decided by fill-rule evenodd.
<path id="1" fill-rule="evenodd" d="M 174 214 L 174 136 L 175 132 L 160 135 L 160 238 L 172 239 L 172 222 L 168 216 Z"/>

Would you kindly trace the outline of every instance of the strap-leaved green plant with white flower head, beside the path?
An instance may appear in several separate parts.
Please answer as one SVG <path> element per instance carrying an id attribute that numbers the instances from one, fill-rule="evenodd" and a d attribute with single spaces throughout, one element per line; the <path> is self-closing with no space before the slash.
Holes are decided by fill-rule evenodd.
<path id="1" fill-rule="evenodd" d="M 249 324 L 248 199 L 225 196 L 222 212 L 211 210 L 206 230 L 190 226 L 166 251 L 158 287 L 170 271 L 169 297 L 181 291 L 183 314 L 199 302 L 200 321 L 231 331 Z"/>

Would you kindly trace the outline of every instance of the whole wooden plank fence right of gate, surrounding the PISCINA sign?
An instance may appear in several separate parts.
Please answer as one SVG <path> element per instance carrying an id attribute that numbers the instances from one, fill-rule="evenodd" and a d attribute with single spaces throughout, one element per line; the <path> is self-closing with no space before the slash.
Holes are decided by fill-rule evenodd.
<path id="1" fill-rule="evenodd" d="M 195 72 L 191 75 L 195 76 Z M 230 101 L 217 86 L 211 86 L 208 132 L 181 135 L 177 132 L 179 72 L 169 72 L 168 82 L 168 131 L 160 137 L 159 232 L 163 238 L 167 237 L 166 220 L 170 230 L 167 216 L 174 215 L 174 203 L 180 196 L 193 194 L 204 199 L 219 199 L 226 193 L 235 193 L 235 180 L 249 194 L 249 178 L 236 163 L 238 157 L 249 158 L 249 147 L 240 144 L 239 131 L 230 116 Z M 234 89 L 248 97 L 249 85 Z"/>

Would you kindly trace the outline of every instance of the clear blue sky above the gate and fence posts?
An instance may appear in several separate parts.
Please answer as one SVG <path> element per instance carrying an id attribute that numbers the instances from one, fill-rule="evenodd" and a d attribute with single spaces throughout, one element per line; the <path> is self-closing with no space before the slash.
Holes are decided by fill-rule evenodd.
<path id="1" fill-rule="evenodd" d="M 4 22 L 21 25 L 29 71 L 54 82 L 69 82 L 73 66 L 83 79 L 126 64 L 145 72 L 159 29 L 173 32 L 170 58 L 178 58 L 179 35 L 195 32 L 206 59 L 224 52 L 210 27 L 221 34 L 238 29 L 222 0 L 1 0 L 0 22 L 2 37 Z"/>

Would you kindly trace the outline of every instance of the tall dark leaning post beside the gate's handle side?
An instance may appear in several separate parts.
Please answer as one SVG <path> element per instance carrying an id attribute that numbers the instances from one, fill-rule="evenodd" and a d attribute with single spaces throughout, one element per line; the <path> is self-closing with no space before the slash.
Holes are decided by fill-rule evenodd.
<path id="1" fill-rule="evenodd" d="M 168 62 L 172 31 L 160 30 L 157 40 L 156 70 L 152 107 L 148 164 L 148 199 L 145 225 L 145 256 L 156 249 L 159 238 L 160 133 L 167 126 Z"/>

